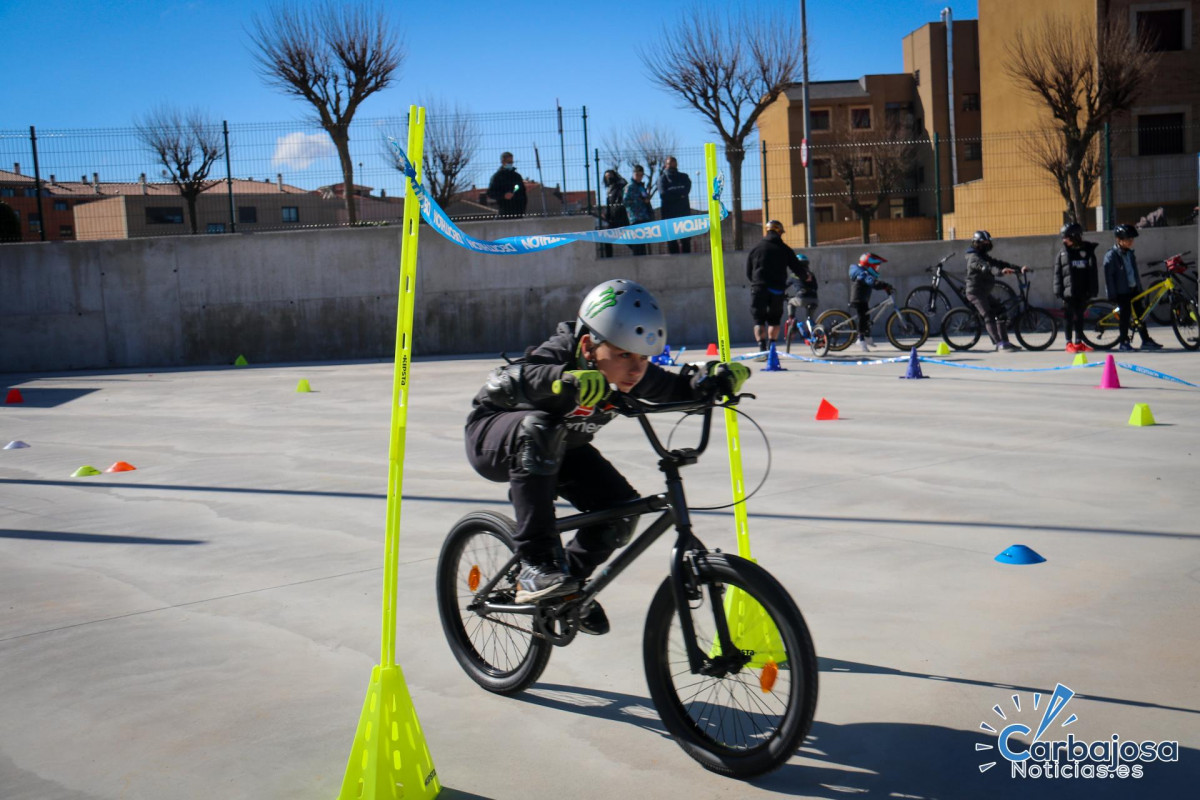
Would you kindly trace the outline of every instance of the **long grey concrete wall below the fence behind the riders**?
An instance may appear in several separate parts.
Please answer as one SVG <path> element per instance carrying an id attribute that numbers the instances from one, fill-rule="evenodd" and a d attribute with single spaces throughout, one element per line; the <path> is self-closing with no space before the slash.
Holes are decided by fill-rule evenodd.
<path id="1" fill-rule="evenodd" d="M 586 217 L 464 225 L 480 239 L 560 233 Z M 1103 234 L 1094 241 L 1109 240 Z M 728 241 L 728 239 L 726 239 Z M 1006 260 L 1043 267 L 1034 300 L 1052 305 L 1056 236 L 998 241 Z M 574 318 L 595 283 L 626 277 L 667 308 L 672 349 L 716 339 L 707 254 L 598 259 L 594 245 L 533 255 L 481 255 L 426 228 L 421 235 L 414 349 L 419 355 L 521 351 Z M 624 247 L 616 248 L 628 252 Z M 875 245 L 901 296 L 965 241 Z M 1196 228 L 1142 233 L 1146 263 L 1196 251 Z M 822 308 L 846 302 L 846 266 L 862 245 L 809 253 Z M 734 342 L 752 339 L 745 253 L 726 253 Z M 0 246 L 0 372 L 391 357 L 400 227 Z"/>

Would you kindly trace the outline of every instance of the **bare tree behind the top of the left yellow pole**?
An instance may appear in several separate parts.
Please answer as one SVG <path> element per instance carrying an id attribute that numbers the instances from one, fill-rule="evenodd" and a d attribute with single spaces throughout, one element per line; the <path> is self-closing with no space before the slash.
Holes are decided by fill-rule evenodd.
<path id="1" fill-rule="evenodd" d="M 433 199 L 445 207 L 467 185 L 467 169 L 479 150 L 479 125 L 457 103 L 452 108 L 437 100 L 419 104 L 425 107 L 422 178 Z M 383 148 L 391 166 L 403 170 L 386 137 Z"/>

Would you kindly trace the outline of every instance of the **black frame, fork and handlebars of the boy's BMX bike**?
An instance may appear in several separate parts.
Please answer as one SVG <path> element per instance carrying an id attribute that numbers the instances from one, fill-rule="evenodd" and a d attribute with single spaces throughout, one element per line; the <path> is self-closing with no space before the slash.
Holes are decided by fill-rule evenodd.
<path id="1" fill-rule="evenodd" d="M 752 397 L 752 395 L 740 395 L 739 398 L 740 397 Z M 632 398 L 629 399 L 632 401 Z M 632 401 L 632 403 L 637 403 L 637 401 Z M 653 407 L 653 410 L 696 410 L 696 403 L 667 403 Z M 703 672 L 709 675 L 724 674 L 725 672 L 728 672 L 730 667 L 725 666 L 727 663 L 732 664 L 737 662 L 737 666 L 740 667 L 742 663 L 744 663 L 744 656 L 740 650 L 737 650 L 733 645 L 733 640 L 730 636 L 728 620 L 725 616 L 722 603 L 716 602 L 716 599 L 714 599 L 712 604 L 714 616 L 713 621 L 716 626 L 718 639 L 720 643 L 719 652 L 725 655 L 712 657 L 700 649 L 696 644 L 695 626 L 691 619 L 691 606 L 689 599 L 694 597 L 697 591 L 697 585 L 694 581 L 694 577 L 696 577 L 696 570 L 692 567 L 692 563 L 697 557 L 702 557 L 707 549 L 692 533 L 691 516 L 688 511 L 688 500 L 684 495 L 683 477 L 680 476 L 679 470 L 688 464 L 695 464 L 701 453 L 703 453 L 708 447 L 713 408 L 715 408 L 715 405 L 704 404 L 703 408 L 704 422 L 700 444 L 696 447 L 683 447 L 670 451 L 662 445 L 658 434 L 654 432 L 654 428 L 650 426 L 644 407 L 641 404 L 634 405 L 632 411 L 624 414 L 626 416 L 637 417 L 643 432 L 650 440 L 650 445 L 658 452 L 660 457 L 659 469 L 661 469 L 666 475 L 666 492 L 662 494 L 636 498 L 602 511 L 589 511 L 560 517 L 556 522 L 556 528 L 559 534 L 563 534 L 571 530 L 578 530 L 580 528 L 586 528 L 588 525 L 616 522 L 626 517 L 640 517 L 646 513 L 659 511 L 662 513 L 632 542 L 630 542 L 629 546 L 626 546 L 625 549 L 617 555 L 617 558 L 599 570 L 580 593 L 560 599 L 559 602 L 552 604 L 494 603 L 486 600 L 496 584 L 499 583 L 504 576 L 516 569 L 520 557 L 514 554 L 512 558 L 510 558 L 508 563 L 505 563 L 505 565 L 496 572 L 491 581 L 475 593 L 476 601 L 468 606 L 468 608 L 485 615 L 491 613 L 505 613 L 533 616 L 534 627 L 540 636 L 545 637 L 556 645 L 569 644 L 575 638 L 575 633 L 577 632 L 580 609 L 586 608 L 596 597 L 596 595 L 604 591 L 604 589 L 617 578 L 617 576 L 624 572 L 630 564 L 637 560 L 637 558 L 644 553 L 664 533 L 666 533 L 668 528 L 674 525 L 677 536 L 674 547 L 671 551 L 671 582 L 676 595 L 676 607 L 679 609 L 679 625 L 683 628 L 684 642 L 688 649 L 689 667 L 694 674 Z M 569 622 L 565 628 L 566 632 L 563 634 L 554 633 L 552 630 L 553 624 L 563 620 L 564 615 Z"/>

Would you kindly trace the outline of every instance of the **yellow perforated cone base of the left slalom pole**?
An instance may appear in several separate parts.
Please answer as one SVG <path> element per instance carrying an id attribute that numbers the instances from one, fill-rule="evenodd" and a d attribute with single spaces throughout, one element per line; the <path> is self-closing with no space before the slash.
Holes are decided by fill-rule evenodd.
<path id="1" fill-rule="evenodd" d="M 432 799 L 442 792 L 400 667 L 376 666 L 337 800 Z"/>

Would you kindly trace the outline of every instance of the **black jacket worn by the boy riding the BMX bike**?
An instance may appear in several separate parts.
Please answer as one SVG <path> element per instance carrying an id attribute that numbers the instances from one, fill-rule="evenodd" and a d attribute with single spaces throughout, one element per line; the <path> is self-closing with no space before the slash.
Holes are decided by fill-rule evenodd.
<path id="1" fill-rule="evenodd" d="M 617 411 L 604 401 L 598 403 L 595 408 L 578 405 L 574 398 L 556 395 L 553 390 L 554 381 L 560 380 L 564 372 L 586 368 L 583 356 L 580 353 L 580 339 L 575 335 L 575 323 L 559 323 L 554 335 L 538 347 L 529 348 L 526 351 L 526 357 L 520 362 L 497 367 L 493 371 L 493 375 L 500 372 L 509 372 L 509 374 L 512 374 L 514 371 L 520 372 L 517 383 L 521 402 L 512 407 L 497 404 L 492 399 L 488 386 L 485 385 L 472 401 L 467 425 L 470 426 L 476 420 L 503 411 L 541 410 L 560 415 L 564 419 L 568 447 L 587 444 L 592 441 L 600 428 L 617 416 Z M 656 363 L 648 363 L 642 380 L 629 393 L 652 403 L 700 398 L 700 384 L 706 374 L 707 371 L 690 365 L 679 372 L 671 372 Z M 490 380 L 488 384 L 491 383 Z M 476 440 L 481 441 L 485 433 L 486 426 L 476 432 Z"/>

